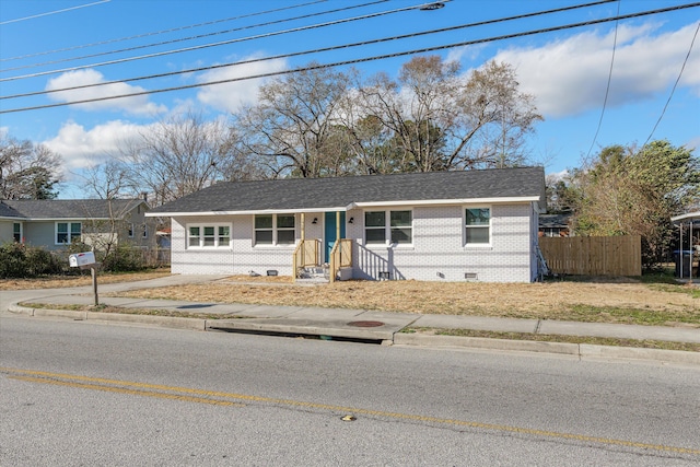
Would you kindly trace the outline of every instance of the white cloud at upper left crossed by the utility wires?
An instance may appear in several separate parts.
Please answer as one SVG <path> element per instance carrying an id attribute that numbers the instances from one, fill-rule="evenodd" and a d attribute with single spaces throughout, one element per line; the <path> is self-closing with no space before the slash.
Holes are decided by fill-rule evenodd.
<path id="1" fill-rule="evenodd" d="M 57 78 L 49 80 L 46 84 L 46 91 L 60 90 L 66 87 L 74 87 L 86 84 L 104 83 L 104 75 L 95 70 L 77 70 L 69 71 Z M 104 84 L 94 87 L 83 87 L 73 91 L 59 91 L 50 93 L 49 97 L 58 102 L 73 102 L 93 98 L 108 97 L 113 95 L 131 94 L 144 92 L 141 86 L 132 86 L 124 82 Z M 114 98 L 106 101 L 95 101 L 85 104 L 74 104 L 75 107 L 83 110 L 121 110 L 129 115 L 155 116 L 166 110 L 163 105 L 149 102 L 147 94 L 131 97 Z"/>

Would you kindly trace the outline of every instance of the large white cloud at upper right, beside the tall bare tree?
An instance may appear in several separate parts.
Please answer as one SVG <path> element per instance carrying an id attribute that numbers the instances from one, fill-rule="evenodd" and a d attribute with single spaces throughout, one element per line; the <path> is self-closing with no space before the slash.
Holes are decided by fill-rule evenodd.
<path id="1" fill-rule="evenodd" d="M 677 79 L 688 54 L 695 24 L 660 33 L 657 25 L 618 28 L 608 106 L 657 96 Z M 510 48 L 494 59 L 515 66 L 522 90 L 535 95 L 548 117 L 599 108 L 605 98 L 615 33 L 583 33 L 539 48 Z M 691 55 L 681 85 L 700 93 L 700 54 Z"/>

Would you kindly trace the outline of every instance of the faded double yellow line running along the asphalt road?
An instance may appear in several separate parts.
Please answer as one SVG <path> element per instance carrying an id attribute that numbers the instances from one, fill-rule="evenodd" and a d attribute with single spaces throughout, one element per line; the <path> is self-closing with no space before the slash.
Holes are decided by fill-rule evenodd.
<path id="1" fill-rule="evenodd" d="M 510 427 L 510 425 L 502 425 L 502 424 L 481 423 L 481 422 L 466 421 L 466 420 L 443 419 L 438 417 L 418 416 L 412 413 L 386 412 L 382 410 L 359 409 L 353 407 L 332 406 L 327 404 L 305 402 L 302 400 L 277 399 L 272 397 L 252 396 L 252 395 L 235 394 L 235 393 L 222 393 L 218 390 L 192 389 L 187 387 L 164 386 L 164 385 L 158 385 L 158 384 L 137 383 L 137 382 L 128 382 L 128 381 L 119 381 L 119 380 L 106 380 L 106 378 L 98 378 L 98 377 L 70 375 L 70 374 L 62 374 L 62 373 L 50 373 L 50 372 L 33 371 L 33 370 L 0 367 L 0 372 L 10 374 L 10 377 L 13 377 L 16 380 L 31 381 L 36 383 L 50 382 L 51 384 L 60 384 L 66 386 L 85 387 L 85 388 L 100 389 L 100 390 L 112 390 L 115 393 L 137 394 L 137 395 L 152 396 L 152 397 L 164 397 L 164 398 L 178 399 L 178 400 L 191 400 L 191 401 L 220 404 L 220 405 L 234 405 L 234 402 L 222 404 L 222 402 L 226 402 L 225 400 L 206 399 L 201 397 L 178 396 L 173 394 L 154 393 L 153 390 L 158 389 L 158 390 L 166 390 L 171 393 L 219 397 L 222 399 L 236 399 L 236 400 L 246 400 L 246 401 L 255 401 L 255 402 L 305 407 L 305 408 L 329 410 L 329 411 L 337 411 L 337 412 L 343 412 L 343 413 L 351 412 L 355 415 L 394 418 L 394 419 L 421 421 L 421 422 L 439 423 L 439 424 L 450 424 L 450 425 L 456 425 L 456 427 L 469 427 L 469 428 L 476 428 L 481 430 L 494 430 L 494 431 L 501 431 L 501 432 L 528 434 L 534 436 L 573 440 L 573 441 L 580 441 L 584 443 L 606 444 L 606 445 L 616 445 L 616 446 L 626 446 L 626 447 L 637 447 L 641 450 L 663 451 L 663 452 L 670 452 L 670 453 L 678 453 L 678 454 L 700 455 L 700 450 L 698 448 L 667 446 L 664 444 L 649 444 L 649 443 L 640 443 L 634 441 L 587 436 L 583 434 L 561 433 L 556 431 L 536 430 L 536 429 L 529 429 L 529 428 Z M 26 376 L 18 376 L 18 375 L 26 375 Z M 56 380 L 68 380 L 68 381 L 59 382 Z M 75 382 L 85 382 L 85 383 L 75 383 Z M 86 383 L 93 383 L 93 384 L 86 384 Z M 113 385 L 113 386 L 105 386 L 105 385 Z M 125 389 L 125 388 L 119 388 L 114 386 L 136 387 L 139 389 Z M 151 390 L 140 390 L 140 389 L 151 389 Z"/>

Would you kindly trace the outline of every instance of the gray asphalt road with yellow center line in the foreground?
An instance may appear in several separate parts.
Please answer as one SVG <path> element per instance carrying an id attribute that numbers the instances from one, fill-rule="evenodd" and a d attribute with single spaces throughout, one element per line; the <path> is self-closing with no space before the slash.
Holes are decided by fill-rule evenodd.
<path id="1" fill-rule="evenodd" d="M 0 317 L 3 466 L 698 463 L 697 366 Z"/>

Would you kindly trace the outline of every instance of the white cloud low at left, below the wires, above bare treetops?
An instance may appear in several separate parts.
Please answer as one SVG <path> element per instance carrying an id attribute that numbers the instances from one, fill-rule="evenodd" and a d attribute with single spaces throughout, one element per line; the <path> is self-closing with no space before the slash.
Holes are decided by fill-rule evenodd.
<path id="1" fill-rule="evenodd" d="M 51 151 L 63 157 L 63 174 L 105 162 L 118 154 L 129 141 L 147 127 L 113 120 L 86 130 L 82 125 L 68 121 L 61 126 L 56 138 L 43 141 Z"/>

